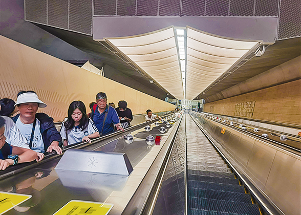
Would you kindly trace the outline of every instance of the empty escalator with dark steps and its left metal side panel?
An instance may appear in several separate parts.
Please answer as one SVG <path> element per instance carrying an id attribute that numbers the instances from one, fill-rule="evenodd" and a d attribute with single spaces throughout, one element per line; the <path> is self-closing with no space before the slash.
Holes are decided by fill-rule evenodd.
<path id="1" fill-rule="evenodd" d="M 153 214 L 260 215 L 262 212 L 198 125 L 185 114 Z"/>

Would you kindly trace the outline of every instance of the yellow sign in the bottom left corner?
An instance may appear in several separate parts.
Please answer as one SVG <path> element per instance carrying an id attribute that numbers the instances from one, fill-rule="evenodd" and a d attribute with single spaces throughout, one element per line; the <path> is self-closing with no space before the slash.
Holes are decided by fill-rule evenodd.
<path id="1" fill-rule="evenodd" d="M 31 195 L 0 191 L 0 215 L 30 198 Z"/>

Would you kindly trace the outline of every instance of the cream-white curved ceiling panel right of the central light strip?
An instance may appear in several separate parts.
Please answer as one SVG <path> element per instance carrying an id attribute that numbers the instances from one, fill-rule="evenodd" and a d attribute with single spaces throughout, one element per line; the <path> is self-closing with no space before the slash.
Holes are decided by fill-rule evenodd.
<path id="1" fill-rule="evenodd" d="M 196 98 L 258 44 L 212 36 L 187 27 L 186 99 Z"/>

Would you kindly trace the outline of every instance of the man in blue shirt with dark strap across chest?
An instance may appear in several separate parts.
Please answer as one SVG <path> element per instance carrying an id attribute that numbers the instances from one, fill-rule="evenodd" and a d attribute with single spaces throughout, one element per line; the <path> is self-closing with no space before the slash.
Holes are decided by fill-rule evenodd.
<path id="1" fill-rule="evenodd" d="M 114 124 L 117 130 L 124 132 L 120 124 L 119 117 L 115 109 L 106 104 L 106 94 L 97 93 L 96 104 L 93 107 L 92 119 L 99 131 L 99 135 L 105 135 L 114 132 Z"/>

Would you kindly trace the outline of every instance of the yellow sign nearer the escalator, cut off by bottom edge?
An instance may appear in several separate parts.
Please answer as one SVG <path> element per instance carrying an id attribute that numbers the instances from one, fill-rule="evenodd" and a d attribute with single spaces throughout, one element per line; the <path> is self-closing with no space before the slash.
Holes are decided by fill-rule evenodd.
<path id="1" fill-rule="evenodd" d="M 113 204 L 102 202 L 88 202 L 80 200 L 71 200 L 54 214 L 56 215 L 106 215 L 112 209 Z M 53 214 L 53 215 L 54 215 Z"/>

